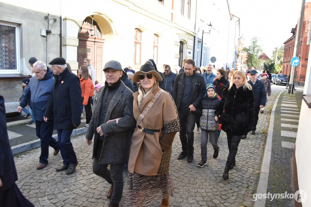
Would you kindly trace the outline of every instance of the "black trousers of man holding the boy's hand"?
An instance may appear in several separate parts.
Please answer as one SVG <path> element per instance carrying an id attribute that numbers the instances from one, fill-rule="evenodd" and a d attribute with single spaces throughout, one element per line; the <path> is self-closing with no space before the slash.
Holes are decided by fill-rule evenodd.
<path id="1" fill-rule="evenodd" d="M 193 140 L 194 140 L 194 127 L 197 116 L 189 110 L 179 110 L 179 138 L 182 145 L 184 155 L 193 157 Z"/>

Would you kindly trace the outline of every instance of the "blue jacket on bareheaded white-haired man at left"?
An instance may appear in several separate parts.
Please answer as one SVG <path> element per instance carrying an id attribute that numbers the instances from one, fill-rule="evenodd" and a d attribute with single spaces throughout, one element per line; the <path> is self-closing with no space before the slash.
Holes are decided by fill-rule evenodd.
<path id="1" fill-rule="evenodd" d="M 52 92 L 53 83 L 53 71 L 49 69 L 41 80 L 32 77 L 28 87 L 25 87 L 23 91 L 20 106 L 23 108 L 27 106 L 30 99 L 30 107 L 35 120 L 43 121 L 44 110 Z M 53 117 L 50 118 L 53 119 Z"/>

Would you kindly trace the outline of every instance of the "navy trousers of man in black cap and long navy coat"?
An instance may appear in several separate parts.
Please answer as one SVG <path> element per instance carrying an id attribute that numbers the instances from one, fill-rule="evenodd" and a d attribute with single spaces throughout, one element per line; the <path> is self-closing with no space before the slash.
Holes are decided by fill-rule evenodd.
<path id="1" fill-rule="evenodd" d="M 58 144 L 64 165 L 75 164 L 78 162 L 76 153 L 73 150 L 73 146 L 70 141 L 72 130 L 73 129 L 57 130 Z"/>

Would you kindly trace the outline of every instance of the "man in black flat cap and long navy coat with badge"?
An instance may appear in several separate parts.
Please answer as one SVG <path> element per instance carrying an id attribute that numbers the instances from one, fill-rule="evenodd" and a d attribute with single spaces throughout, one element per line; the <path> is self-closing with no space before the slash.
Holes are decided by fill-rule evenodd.
<path id="1" fill-rule="evenodd" d="M 58 144 L 63 158 L 63 167 L 56 171 L 67 170 L 66 174 L 71 174 L 78 164 L 70 136 L 72 130 L 81 124 L 80 79 L 69 71 L 66 60 L 62 57 L 53 59 L 49 64 L 52 65 L 55 82 L 44 112 L 44 121 L 48 121 L 54 114 L 54 128 L 57 129 Z"/>

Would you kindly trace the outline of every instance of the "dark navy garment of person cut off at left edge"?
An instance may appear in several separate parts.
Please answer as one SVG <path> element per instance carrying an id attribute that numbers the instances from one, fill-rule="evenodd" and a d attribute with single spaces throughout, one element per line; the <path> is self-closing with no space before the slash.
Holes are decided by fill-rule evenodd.
<path id="1" fill-rule="evenodd" d="M 0 178 L 4 191 L 11 187 L 17 180 L 17 173 L 14 164 L 13 154 L 7 135 L 7 122 L 5 119 L 4 98 L 0 96 Z"/>

